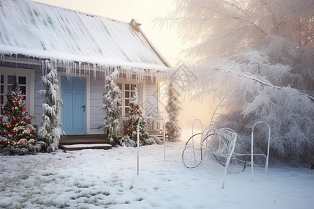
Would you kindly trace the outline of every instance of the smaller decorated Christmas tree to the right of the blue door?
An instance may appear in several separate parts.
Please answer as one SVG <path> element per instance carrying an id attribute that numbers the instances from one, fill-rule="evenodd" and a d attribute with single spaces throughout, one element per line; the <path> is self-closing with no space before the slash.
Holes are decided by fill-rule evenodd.
<path id="1" fill-rule="evenodd" d="M 138 99 L 137 89 L 135 88 L 135 94 L 130 99 L 128 104 L 128 125 L 126 127 L 126 135 L 130 139 L 129 144 L 135 146 L 137 143 L 137 124 L 139 125 L 139 138 L 140 145 L 147 144 L 149 133 L 147 132 L 146 122 L 142 116 L 142 107 L 140 107 L 140 100 Z M 126 142 L 127 140 L 124 139 Z M 134 141 L 135 143 L 133 143 Z"/>

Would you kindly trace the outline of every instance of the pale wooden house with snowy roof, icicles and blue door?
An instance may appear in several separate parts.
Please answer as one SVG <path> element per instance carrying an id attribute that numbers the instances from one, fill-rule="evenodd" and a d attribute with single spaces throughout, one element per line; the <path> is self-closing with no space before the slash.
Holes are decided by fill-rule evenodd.
<path id="1" fill-rule="evenodd" d="M 123 91 L 122 116 L 135 87 L 146 114 L 158 115 L 155 74 L 170 65 L 135 20 L 120 22 L 29 0 L 0 1 L 0 106 L 16 75 L 29 113 L 41 121 L 38 82 L 45 60 L 57 68 L 66 134 L 100 133 L 105 76 L 114 70 Z"/>

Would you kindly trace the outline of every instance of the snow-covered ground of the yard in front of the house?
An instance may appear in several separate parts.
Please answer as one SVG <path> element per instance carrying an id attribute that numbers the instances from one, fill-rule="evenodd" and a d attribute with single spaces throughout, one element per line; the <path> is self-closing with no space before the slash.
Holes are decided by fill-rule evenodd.
<path id="1" fill-rule="evenodd" d="M 185 134 L 185 135 L 189 135 Z M 137 148 L 0 156 L 0 208 L 313 208 L 314 172 L 272 163 L 229 174 L 205 159 L 186 169 L 186 139 Z"/>

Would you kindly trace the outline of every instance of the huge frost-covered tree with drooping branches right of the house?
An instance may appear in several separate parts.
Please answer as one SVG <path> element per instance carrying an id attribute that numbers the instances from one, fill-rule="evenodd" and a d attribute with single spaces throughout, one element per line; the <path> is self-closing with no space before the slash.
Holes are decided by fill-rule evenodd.
<path id="1" fill-rule="evenodd" d="M 313 10 L 303 0 L 177 0 L 167 18 L 195 43 L 186 50 L 200 61 L 191 92 L 225 98 L 215 125 L 249 144 L 250 127 L 266 121 L 271 156 L 293 164 L 314 161 Z"/>

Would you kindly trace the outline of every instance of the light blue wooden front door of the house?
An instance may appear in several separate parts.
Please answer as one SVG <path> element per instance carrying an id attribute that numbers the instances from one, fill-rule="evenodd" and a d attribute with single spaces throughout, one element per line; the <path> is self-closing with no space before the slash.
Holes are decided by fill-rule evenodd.
<path id="1" fill-rule="evenodd" d="M 86 78 L 61 76 L 61 123 L 66 134 L 86 134 Z"/>

